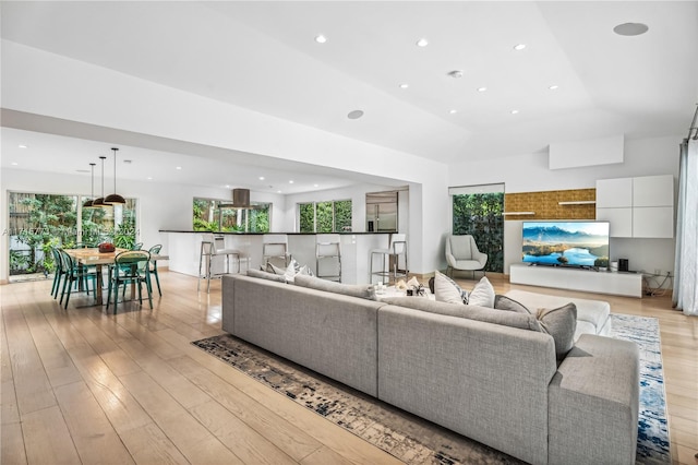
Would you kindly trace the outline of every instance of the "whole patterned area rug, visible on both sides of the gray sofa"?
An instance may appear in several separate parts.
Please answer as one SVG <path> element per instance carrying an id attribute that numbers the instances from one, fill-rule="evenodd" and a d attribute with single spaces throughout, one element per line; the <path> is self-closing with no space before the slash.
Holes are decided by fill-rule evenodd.
<path id="1" fill-rule="evenodd" d="M 637 464 L 671 463 L 657 319 L 612 314 L 614 337 L 640 347 Z M 520 464 L 430 421 L 224 334 L 192 344 L 407 464 Z"/>

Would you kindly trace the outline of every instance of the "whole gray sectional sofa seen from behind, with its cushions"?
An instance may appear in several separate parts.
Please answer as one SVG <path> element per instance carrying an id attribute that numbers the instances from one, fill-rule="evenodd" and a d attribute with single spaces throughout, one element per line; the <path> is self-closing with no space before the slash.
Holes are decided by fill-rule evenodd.
<path id="1" fill-rule="evenodd" d="M 582 334 L 558 362 L 524 314 L 317 282 L 224 276 L 224 331 L 529 463 L 635 463 L 635 344 Z"/>

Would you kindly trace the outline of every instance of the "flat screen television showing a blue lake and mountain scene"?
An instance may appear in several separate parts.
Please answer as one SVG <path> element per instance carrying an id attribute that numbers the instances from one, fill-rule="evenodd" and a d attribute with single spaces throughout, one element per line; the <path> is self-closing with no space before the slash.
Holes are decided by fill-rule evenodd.
<path id="1" fill-rule="evenodd" d="M 524 263 L 609 266 L 609 222 L 524 222 Z"/>

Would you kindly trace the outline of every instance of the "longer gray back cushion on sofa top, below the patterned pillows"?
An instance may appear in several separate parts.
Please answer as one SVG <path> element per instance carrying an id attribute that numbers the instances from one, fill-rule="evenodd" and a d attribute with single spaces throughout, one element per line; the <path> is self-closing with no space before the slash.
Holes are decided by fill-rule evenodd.
<path id="1" fill-rule="evenodd" d="M 532 314 L 494 311 L 491 308 L 471 305 L 466 306 L 462 303 L 437 302 L 421 297 L 386 297 L 382 300 L 388 305 L 421 310 L 430 313 L 466 318 L 468 320 L 502 324 L 504 326 L 518 327 L 520 330 L 542 331 L 538 320 Z"/>

